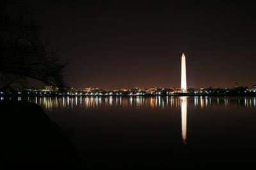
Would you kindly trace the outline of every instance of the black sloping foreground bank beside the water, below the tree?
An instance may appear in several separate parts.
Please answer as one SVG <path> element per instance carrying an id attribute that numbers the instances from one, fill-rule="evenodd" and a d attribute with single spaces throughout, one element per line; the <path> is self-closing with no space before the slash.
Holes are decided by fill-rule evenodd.
<path id="1" fill-rule="evenodd" d="M 86 169 L 83 160 L 38 104 L 0 101 L 4 169 Z"/>

